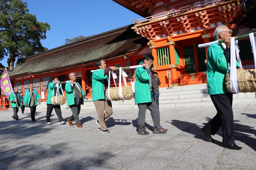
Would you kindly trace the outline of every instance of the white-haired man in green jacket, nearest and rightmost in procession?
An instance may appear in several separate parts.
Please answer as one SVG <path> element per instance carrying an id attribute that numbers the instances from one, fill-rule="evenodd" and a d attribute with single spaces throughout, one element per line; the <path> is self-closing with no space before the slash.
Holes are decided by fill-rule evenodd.
<path id="1" fill-rule="evenodd" d="M 212 44 L 207 50 L 207 87 L 208 94 L 217 110 L 216 116 L 212 118 L 202 129 L 202 133 L 210 142 L 215 142 L 211 135 L 215 135 L 219 128 L 223 130 L 222 144 L 224 148 L 241 150 L 235 144 L 233 132 L 233 96 L 225 86 L 225 74 L 230 70 L 230 29 L 224 25 L 218 26 L 213 36 L 215 40 L 225 40 L 222 44 Z M 239 64 L 237 62 L 237 68 Z"/>

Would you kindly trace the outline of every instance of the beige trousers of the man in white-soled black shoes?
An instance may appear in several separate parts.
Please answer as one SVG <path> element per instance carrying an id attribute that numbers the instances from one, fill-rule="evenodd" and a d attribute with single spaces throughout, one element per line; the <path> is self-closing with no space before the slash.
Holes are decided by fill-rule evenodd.
<path id="1" fill-rule="evenodd" d="M 105 122 L 107 122 L 107 120 L 110 118 L 110 116 L 113 113 L 111 101 L 107 100 L 105 96 L 105 100 L 104 99 L 95 100 L 93 103 L 96 108 L 101 130 L 107 130 L 108 128 Z M 104 110 L 106 110 L 105 113 L 104 113 Z"/>

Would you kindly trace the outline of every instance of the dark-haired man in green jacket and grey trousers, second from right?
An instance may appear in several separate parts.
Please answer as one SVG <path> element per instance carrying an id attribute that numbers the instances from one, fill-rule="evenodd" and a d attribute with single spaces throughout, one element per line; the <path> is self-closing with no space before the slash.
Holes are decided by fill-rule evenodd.
<path id="1" fill-rule="evenodd" d="M 150 114 L 154 123 L 153 133 L 166 133 L 167 129 L 160 126 L 160 112 L 156 104 L 154 87 L 150 67 L 154 62 L 154 57 L 150 54 L 145 54 L 142 58 L 143 67 L 138 67 L 135 70 L 135 102 L 138 104 L 138 134 L 148 135 L 145 128 L 146 110 L 149 108 Z"/>

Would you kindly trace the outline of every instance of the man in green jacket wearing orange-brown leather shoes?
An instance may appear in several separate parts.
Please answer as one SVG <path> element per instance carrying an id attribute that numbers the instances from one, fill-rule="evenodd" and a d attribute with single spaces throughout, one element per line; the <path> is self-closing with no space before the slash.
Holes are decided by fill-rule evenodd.
<path id="1" fill-rule="evenodd" d="M 82 128 L 81 121 L 79 120 L 79 113 L 81 110 L 81 104 L 84 104 L 84 98 L 88 100 L 88 97 L 85 95 L 85 92 L 82 90 L 80 84 L 76 82 L 75 73 L 69 74 L 70 82 L 66 83 L 66 96 L 67 104 L 72 111 L 72 115 L 67 119 L 70 126 L 73 126 L 73 121 L 77 123 L 78 128 Z"/>

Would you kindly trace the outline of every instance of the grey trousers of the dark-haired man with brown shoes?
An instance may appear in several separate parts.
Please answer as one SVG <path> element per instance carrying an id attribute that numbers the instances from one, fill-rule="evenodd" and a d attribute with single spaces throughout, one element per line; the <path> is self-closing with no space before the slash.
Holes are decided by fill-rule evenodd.
<path id="1" fill-rule="evenodd" d="M 152 121 L 154 123 L 155 129 L 162 129 L 160 126 L 160 112 L 159 107 L 156 104 L 156 101 L 154 100 L 152 96 L 152 102 L 149 103 L 137 103 L 139 108 L 139 114 L 138 114 L 138 129 L 140 132 L 146 131 L 145 128 L 145 117 L 146 117 L 146 110 L 147 107 L 150 110 L 150 114 L 152 117 Z"/>

